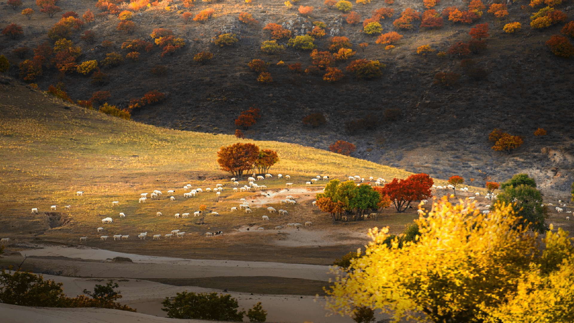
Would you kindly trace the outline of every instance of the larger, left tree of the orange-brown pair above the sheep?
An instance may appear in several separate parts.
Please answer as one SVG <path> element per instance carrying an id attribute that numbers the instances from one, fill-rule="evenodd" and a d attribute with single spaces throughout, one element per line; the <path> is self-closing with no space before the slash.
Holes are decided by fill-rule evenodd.
<path id="1" fill-rule="evenodd" d="M 241 178 L 243 172 L 253 170 L 253 165 L 259 157 L 259 147 L 251 143 L 236 143 L 221 147 L 217 156 L 217 162 L 223 171 Z"/>

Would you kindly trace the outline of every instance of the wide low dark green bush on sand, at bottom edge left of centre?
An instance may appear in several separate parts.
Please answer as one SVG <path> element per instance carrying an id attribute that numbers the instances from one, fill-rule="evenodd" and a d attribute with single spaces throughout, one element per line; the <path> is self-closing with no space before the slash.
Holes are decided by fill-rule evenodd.
<path id="1" fill-rule="evenodd" d="M 200 320 L 242 321 L 245 311 L 238 312 L 237 300 L 230 294 L 217 293 L 177 293 L 173 303 L 166 297 L 161 310 L 168 312 L 168 317 L 197 318 Z"/>

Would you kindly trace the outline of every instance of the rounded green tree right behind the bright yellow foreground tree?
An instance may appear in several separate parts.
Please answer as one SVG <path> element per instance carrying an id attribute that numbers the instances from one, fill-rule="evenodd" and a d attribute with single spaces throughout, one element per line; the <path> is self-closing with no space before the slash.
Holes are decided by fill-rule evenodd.
<path id="1" fill-rule="evenodd" d="M 497 195 L 497 200 L 512 204 L 516 214 L 526 223 L 531 223 L 532 230 L 542 233 L 548 229 L 545 224 L 548 207 L 542 206 L 542 194 L 533 186 L 525 184 L 506 186 L 505 190 Z"/>

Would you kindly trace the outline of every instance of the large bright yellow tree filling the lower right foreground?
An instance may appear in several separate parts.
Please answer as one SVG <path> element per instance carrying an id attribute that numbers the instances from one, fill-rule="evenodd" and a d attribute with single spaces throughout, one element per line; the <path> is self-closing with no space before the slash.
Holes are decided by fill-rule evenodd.
<path id="1" fill-rule="evenodd" d="M 519 315 L 511 313 L 532 300 L 536 306 L 522 309 L 525 315 L 559 318 L 540 322 L 572 322 L 574 277 L 567 275 L 573 272 L 572 239 L 567 233 L 548 232 L 553 243 L 540 255 L 537 234 L 529 234 L 511 205 L 499 203 L 485 215 L 474 202 L 452 205 L 446 198 L 415 222 L 420 236 L 402 248 L 398 239 L 391 247 L 383 245 L 388 228 L 369 230 L 373 241 L 364 253 L 358 251 L 362 256 L 352 259 L 346 271 L 332 269 L 336 278 L 327 290 L 327 308 L 351 316 L 367 306 L 393 314 L 395 321 L 538 322 L 514 320 Z"/>

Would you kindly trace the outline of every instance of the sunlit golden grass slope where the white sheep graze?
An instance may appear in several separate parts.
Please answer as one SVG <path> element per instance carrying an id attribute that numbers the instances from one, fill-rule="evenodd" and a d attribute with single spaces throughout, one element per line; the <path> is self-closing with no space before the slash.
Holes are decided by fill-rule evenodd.
<path id="1" fill-rule="evenodd" d="M 12 241 L 41 239 L 58 243 L 77 244 L 79 237 L 88 236 L 86 245 L 115 251 L 148 255 L 169 255 L 205 259 L 267 260 L 278 262 L 330 263 L 333 258 L 362 247 L 364 242 L 321 248 L 300 247 L 301 252 L 274 241 L 283 239 L 273 227 L 288 222 L 312 221 L 312 229 L 333 229 L 333 239 L 345 239 L 347 232 L 366 232 L 373 226 L 390 226 L 398 233 L 417 218 L 416 212 L 395 213 L 387 209 L 377 221 L 348 222 L 333 225 L 328 214 L 311 206 L 313 196 L 296 206 L 271 204 L 286 209 L 287 216 L 267 213 L 265 205 L 252 208 L 253 213 L 229 212 L 238 206 L 240 198 L 253 198 L 259 192 L 233 193 L 229 174 L 219 170 L 216 152 L 224 145 L 236 143 L 234 136 L 206 134 L 157 128 L 110 117 L 94 110 L 66 105 L 58 99 L 22 86 L 3 86 L 8 100 L 0 103 L 0 236 Z M 265 111 L 263 110 L 263 113 Z M 250 140 L 245 140 L 250 141 Z M 315 148 L 275 141 L 253 141 L 260 148 L 278 152 L 280 162 L 270 173 L 291 175 L 290 180 L 265 180 L 268 189 L 278 191 L 286 182 L 305 187 L 315 175 L 346 180 L 348 175 L 365 178 L 378 176 L 390 180 L 405 178 L 409 172 L 338 155 Z M 437 184 L 443 180 L 435 180 Z M 226 184 L 219 198 L 214 193 L 183 198 L 185 184 L 193 188 Z M 320 180 L 312 190 L 320 190 Z M 243 179 L 240 185 L 246 184 Z M 153 190 L 164 193 L 156 200 L 138 203 L 140 193 Z M 176 201 L 170 201 L 168 190 L 176 190 Z M 475 189 L 476 190 L 476 189 Z M 76 191 L 85 191 L 82 197 Z M 303 196 L 302 196 L 303 197 Z M 112 206 L 118 201 L 119 206 Z M 216 211 L 219 217 L 176 219 L 175 213 L 193 213 L 199 205 Z M 44 212 L 57 205 L 56 212 L 71 217 L 68 225 L 49 228 Z M 64 210 L 64 205 L 71 205 Z M 30 213 L 38 207 L 40 213 Z M 119 218 L 119 213 L 126 214 Z M 163 216 L 156 217 L 156 212 Z M 261 216 L 269 214 L 270 221 Z M 114 224 L 102 225 L 104 217 L 114 218 Z M 103 233 L 96 228 L 103 226 Z M 239 232 L 205 238 L 205 232 L 222 230 L 231 233 L 245 226 L 264 226 L 265 232 Z M 187 232 L 184 239 L 152 241 L 153 234 L 169 233 L 173 229 Z M 341 231 L 342 230 L 342 231 Z M 139 241 L 137 234 L 148 232 L 148 240 Z M 116 241 L 114 234 L 129 234 L 128 241 Z M 107 235 L 107 241 L 100 241 Z M 320 241 L 317 243 L 320 245 Z M 265 245 L 265 248 L 262 246 Z M 303 252 L 304 251 L 304 252 Z"/>

